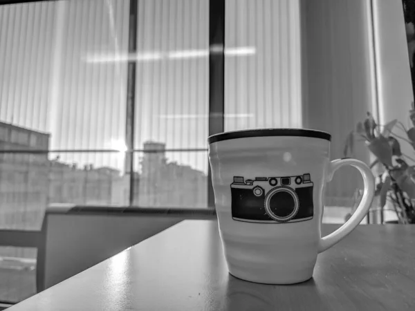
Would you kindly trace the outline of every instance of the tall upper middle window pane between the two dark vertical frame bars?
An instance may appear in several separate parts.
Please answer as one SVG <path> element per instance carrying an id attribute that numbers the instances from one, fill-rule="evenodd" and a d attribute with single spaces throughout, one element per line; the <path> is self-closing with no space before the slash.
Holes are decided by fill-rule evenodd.
<path id="1" fill-rule="evenodd" d="M 209 1 L 138 3 L 135 149 L 207 148 Z"/>

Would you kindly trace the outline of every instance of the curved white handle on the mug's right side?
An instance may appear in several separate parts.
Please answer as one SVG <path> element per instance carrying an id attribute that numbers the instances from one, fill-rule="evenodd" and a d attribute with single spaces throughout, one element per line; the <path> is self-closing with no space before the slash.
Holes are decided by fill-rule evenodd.
<path id="1" fill-rule="evenodd" d="M 356 167 L 362 174 L 363 182 L 365 184 L 365 190 L 363 191 L 362 200 L 356 211 L 353 213 L 351 218 L 347 220 L 346 223 L 342 225 L 339 229 L 335 230 L 335 232 L 329 234 L 328 236 L 324 236 L 324 238 L 320 238 L 318 243 L 318 252 L 324 252 L 326 249 L 329 249 L 336 243 L 338 243 L 342 238 L 347 236 L 353 229 L 356 228 L 357 225 L 360 224 L 363 218 L 365 218 L 367 211 L 369 211 L 369 207 L 371 206 L 372 200 L 374 200 L 375 194 L 375 178 L 374 174 L 371 172 L 371 169 L 362 161 L 356 159 L 338 159 L 333 160 L 329 166 L 329 176 L 327 178 L 327 182 L 330 182 L 333 178 L 333 174 L 335 171 L 343 167 L 344 165 L 351 165 L 352 167 Z"/>

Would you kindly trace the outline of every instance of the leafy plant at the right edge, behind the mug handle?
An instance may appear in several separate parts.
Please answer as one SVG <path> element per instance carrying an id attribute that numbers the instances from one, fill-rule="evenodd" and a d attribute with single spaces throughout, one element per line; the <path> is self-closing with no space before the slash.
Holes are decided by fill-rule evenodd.
<path id="1" fill-rule="evenodd" d="M 415 224 L 415 166 L 407 160 L 413 158 L 401 152 L 400 142 L 412 146 L 415 150 L 415 109 L 409 111 L 412 127 L 406 129 L 402 122 L 392 120 L 379 126 L 371 113 L 367 113 L 364 122 L 358 122 L 356 129 L 347 135 L 344 145 L 344 156 L 353 156 L 353 146 L 356 140 L 364 140 L 367 148 L 374 154 L 376 160 L 370 164 L 373 168 L 381 164 L 383 172 L 376 177 L 376 194 L 380 209 L 391 202 L 398 216 L 398 223 Z M 400 135 L 395 129 L 403 131 Z"/>

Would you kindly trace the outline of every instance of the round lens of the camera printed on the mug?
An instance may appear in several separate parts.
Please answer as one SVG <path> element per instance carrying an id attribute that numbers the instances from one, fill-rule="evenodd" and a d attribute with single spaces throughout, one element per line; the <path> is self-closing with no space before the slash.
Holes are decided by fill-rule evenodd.
<path id="1" fill-rule="evenodd" d="M 265 197 L 265 209 L 270 218 L 284 223 L 297 215 L 298 196 L 293 189 L 288 187 L 271 189 Z"/>

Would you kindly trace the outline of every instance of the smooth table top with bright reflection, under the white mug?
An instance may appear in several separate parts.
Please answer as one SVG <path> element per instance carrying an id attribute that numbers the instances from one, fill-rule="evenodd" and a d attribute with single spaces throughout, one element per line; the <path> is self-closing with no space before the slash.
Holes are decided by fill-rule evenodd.
<path id="1" fill-rule="evenodd" d="M 228 274 L 215 220 L 185 220 L 9 310 L 415 310 L 414 241 L 412 225 L 360 225 L 310 281 L 261 285 Z"/>

